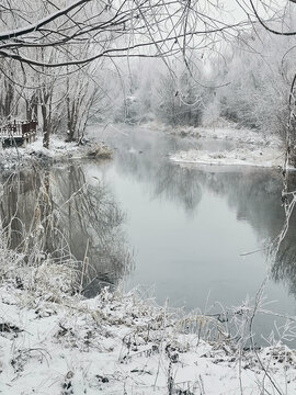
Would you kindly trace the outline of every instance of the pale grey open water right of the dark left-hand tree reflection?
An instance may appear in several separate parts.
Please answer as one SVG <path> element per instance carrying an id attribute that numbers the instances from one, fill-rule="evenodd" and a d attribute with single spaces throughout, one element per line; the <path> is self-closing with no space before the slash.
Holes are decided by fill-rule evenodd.
<path id="1" fill-rule="evenodd" d="M 231 307 L 254 298 L 269 273 L 263 307 L 295 315 L 294 218 L 276 261 L 267 259 L 284 223 L 281 172 L 180 166 L 170 162 L 169 153 L 205 145 L 234 149 L 235 144 L 137 128 L 124 133 L 105 135 L 116 148 L 113 162 L 87 165 L 84 171 L 100 174 L 127 215 L 135 269 L 126 289 L 141 284 L 159 303 L 169 298 L 186 309 L 207 309 L 215 302 Z M 261 316 L 257 325 L 267 336 L 273 321 Z"/>

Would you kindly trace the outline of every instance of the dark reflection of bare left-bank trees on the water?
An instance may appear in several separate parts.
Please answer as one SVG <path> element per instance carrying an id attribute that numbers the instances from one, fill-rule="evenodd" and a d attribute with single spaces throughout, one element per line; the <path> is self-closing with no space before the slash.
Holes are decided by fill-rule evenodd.
<path id="1" fill-rule="evenodd" d="M 115 284 L 129 270 L 124 215 L 102 183 L 86 183 L 80 167 L 16 174 L 4 184 L 3 196 L 1 218 L 4 226 L 11 223 L 11 247 L 23 248 L 31 233 L 53 257 L 68 250 L 83 262 L 83 286 L 92 280 L 89 294 L 98 279 Z"/>

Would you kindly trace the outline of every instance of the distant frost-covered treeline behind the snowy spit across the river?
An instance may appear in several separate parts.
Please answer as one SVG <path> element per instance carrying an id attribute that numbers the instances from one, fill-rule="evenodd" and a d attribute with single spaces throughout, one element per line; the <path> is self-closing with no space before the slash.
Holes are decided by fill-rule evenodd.
<path id="1" fill-rule="evenodd" d="M 111 116 L 172 126 L 212 126 L 224 120 L 284 135 L 296 58 L 292 47 L 293 38 L 255 26 L 220 52 L 194 53 L 186 64 L 130 59 L 109 87 Z"/>

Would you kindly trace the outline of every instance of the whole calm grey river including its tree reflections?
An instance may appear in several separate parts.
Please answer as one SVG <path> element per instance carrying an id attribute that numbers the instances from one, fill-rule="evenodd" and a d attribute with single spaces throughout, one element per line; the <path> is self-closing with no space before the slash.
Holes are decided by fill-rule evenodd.
<path id="1" fill-rule="evenodd" d="M 252 304 L 267 275 L 261 308 L 295 315 L 294 217 L 275 259 L 269 255 L 284 223 L 278 170 L 169 160 L 178 149 L 234 149 L 231 142 L 136 126 L 109 127 L 98 138 L 113 147 L 113 160 L 72 161 L 7 181 L 1 212 L 4 224 L 15 217 L 12 248 L 32 229 L 36 207 L 49 210 L 50 230 L 41 242 L 50 253 L 68 249 L 83 261 L 88 297 L 104 284 L 121 284 L 160 304 L 210 315 Z M 266 343 L 262 337 L 271 330 L 277 337 L 283 323 L 259 314 L 257 341 Z"/>

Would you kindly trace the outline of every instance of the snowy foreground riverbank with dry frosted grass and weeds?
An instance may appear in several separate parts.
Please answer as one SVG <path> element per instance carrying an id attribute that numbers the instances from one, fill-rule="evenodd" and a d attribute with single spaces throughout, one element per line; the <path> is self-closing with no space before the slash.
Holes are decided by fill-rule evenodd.
<path id="1" fill-rule="evenodd" d="M 184 317 L 135 292 L 73 295 L 79 271 L 70 260 L 35 257 L 30 266 L 12 251 L 0 256 L 0 393 L 296 391 L 296 356 L 285 346 L 250 351 L 229 339 L 221 320 Z M 209 320 L 217 336 L 204 341 Z"/>

